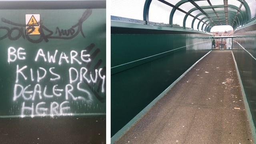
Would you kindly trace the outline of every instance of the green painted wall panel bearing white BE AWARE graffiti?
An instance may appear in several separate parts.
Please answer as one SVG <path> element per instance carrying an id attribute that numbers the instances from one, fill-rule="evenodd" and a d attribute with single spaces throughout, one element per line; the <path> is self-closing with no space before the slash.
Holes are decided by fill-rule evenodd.
<path id="1" fill-rule="evenodd" d="M 40 14 L 40 35 L 26 34 L 26 14 Z M 106 9 L 0 18 L 0 117 L 106 114 Z"/>

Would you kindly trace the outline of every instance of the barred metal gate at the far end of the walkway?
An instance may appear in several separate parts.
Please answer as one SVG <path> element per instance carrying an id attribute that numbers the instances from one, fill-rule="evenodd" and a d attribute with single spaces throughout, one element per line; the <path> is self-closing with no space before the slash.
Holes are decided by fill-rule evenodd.
<path id="1" fill-rule="evenodd" d="M 212 38 L 212 50 L 232 50 L 234 36 L 215 36 Z"/>

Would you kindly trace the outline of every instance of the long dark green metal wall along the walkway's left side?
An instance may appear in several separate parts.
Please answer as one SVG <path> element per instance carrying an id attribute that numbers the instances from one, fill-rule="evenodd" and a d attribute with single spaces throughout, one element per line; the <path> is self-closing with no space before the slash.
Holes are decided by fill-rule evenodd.
<path id="1" fill-rule="evenodd" d="M 144 27 L 112 22 L 111 136 L 211 49 L 210 34 Z"/>

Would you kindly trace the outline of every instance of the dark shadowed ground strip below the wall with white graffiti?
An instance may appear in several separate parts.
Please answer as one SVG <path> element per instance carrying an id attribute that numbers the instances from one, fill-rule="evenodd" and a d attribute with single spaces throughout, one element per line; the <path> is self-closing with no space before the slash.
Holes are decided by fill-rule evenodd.
<path id="1" fill-rule="evenodd" d="M 106 117 L 1 118 L 0 144 L 106 144 Z"/>

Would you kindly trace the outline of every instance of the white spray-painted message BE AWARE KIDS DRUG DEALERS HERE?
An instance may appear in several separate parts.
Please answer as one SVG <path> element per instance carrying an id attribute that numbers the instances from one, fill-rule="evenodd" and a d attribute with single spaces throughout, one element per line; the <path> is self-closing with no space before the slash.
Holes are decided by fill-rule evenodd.
<path id="1" fill-rule="evenodd" d="M 25 48 L 8 48 L 8 63 L 24 61 L 27 58 Z M 88 85 L 98 82 L 99 92 L 105 93 L 106 76 L 103 68 L 88 70 L 84 63 L 91 62 L 91 56 L 86 50 L 79 52 L 71 50 L 70 53 L 44 52 L 39 49 L 33 59 L 34 64 L 44 63 L 51 65 L 45 68 L 43 65 L 29 67 L 16 64 L 16 79 L 13 88 L 13 101 L 19 102 L 20 116 L 30 115 L 64 115 L 71 114 L 70 103 L 82 102 L 84 107 L 91 106 L 93 93 Z M 70 66 L 66 71 L 58 71 L 62 65 Z M 65 73 L 65 74 L 63 74 Z M 63 79 L 66 84 L 63 84 Z M 100 82 L 99 82 L 100 81 Z M 98 89 L 99 89 L 98 88 Z M 98 106 L 98 105 L 97 105 Z M 78 106 L 79 109 L 79 106 Z"/>

